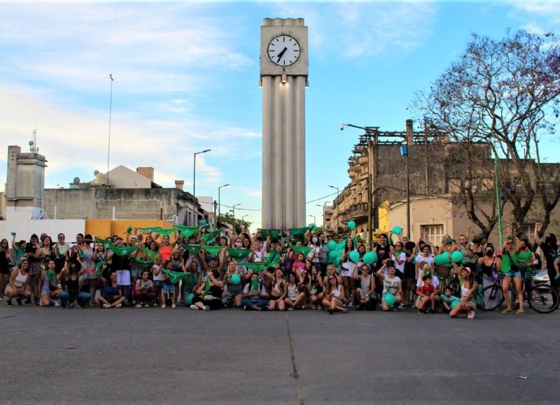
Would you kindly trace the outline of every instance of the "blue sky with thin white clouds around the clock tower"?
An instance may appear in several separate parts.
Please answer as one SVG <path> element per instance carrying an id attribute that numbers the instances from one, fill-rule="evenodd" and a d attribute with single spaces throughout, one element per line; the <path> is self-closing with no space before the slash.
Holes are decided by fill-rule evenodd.
<path id="1" fill-rule="evenodd" d="M 309 27 L 307 214 L 349 182 L 361 134 L 340 124 L 404 130 L 407 106 L 456 59 L 470 34 L 560 31 L 558 1 L 0 1 L 0 178 L 8 145 L 33 129 L 46 187 L 110 168 L 153 166 L 155 182 L 218 197 L 222 212 L 260 225 L 260 26 Z M 419 129 L 419 125 L 415 125 Z M 552 159 L 556 159 L 552 156 Z M 3 181 L 1 182 L 3 190 Z"/>

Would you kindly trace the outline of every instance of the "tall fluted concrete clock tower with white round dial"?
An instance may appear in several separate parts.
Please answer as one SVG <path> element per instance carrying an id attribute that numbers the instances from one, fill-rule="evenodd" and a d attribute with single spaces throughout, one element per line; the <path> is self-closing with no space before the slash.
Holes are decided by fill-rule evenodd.
<path id="1" fill-rule="evenodd" d="M 265 18 L 260 27 L 262 228 L 304 227 L 305 88 L 303 18 Z"/>

